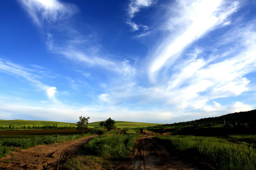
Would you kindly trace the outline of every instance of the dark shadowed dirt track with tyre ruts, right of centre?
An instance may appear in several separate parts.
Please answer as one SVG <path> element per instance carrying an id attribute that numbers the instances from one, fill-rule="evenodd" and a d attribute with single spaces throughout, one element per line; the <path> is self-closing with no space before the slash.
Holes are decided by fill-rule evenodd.
<path id="1" fill-rule="evenodd" d="M 132 170 L 198 170 L 169 153 L 154 140 L 154 134 L 145 134 L 136 141 Z"/>

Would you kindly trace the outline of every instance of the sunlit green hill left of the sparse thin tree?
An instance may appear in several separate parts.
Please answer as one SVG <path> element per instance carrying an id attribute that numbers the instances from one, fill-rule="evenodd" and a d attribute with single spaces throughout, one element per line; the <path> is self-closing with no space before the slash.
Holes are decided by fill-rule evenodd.
<path id="1" fill-rule="evenodd" d="M 57 125 L 60 127 L 63 126 L 76 126 L 76 123 L 65 123 L 65 122 L 52 122 L 52 121 L 38 121 L 38 120 L 0 120 L 0 126 L 7 127 L 7 126 L 44 126 L 44 125 Z"/>

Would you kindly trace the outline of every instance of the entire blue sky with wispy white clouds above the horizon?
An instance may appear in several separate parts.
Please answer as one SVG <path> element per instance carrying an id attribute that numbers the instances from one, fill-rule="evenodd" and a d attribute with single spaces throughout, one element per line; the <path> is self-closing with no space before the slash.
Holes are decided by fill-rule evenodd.
<path id="1" fill-rule="evenodd" d="M 0 119 L 174 123 L 256 108 L 255 0 L 4 0 Z"/>

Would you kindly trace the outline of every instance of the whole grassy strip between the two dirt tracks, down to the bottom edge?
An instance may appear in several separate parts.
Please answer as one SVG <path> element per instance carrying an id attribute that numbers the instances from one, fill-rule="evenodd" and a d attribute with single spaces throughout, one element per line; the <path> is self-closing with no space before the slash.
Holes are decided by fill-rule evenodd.
<path id="1" fill-rule="evenodd" d="M 133 134 L 102 135 L 91 139 L 84 145 L 79 155 L 62 164 L 64 170 L 113 170 L 122 166 L 126 156 L 132 154 L 131 148 L 139 137 Z"/>

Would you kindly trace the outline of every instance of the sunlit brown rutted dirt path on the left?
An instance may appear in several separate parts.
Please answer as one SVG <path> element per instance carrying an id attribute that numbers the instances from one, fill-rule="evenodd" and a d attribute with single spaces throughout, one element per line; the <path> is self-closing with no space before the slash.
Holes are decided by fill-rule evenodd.
<path id="1" fill-rule="evenodd" d="M 58 170 L 58 164 L 61 161 L 76 153 L 81 146 L 95 136 L 97 135 L 13 152 L 0 159 L 0 170 Z"/>

